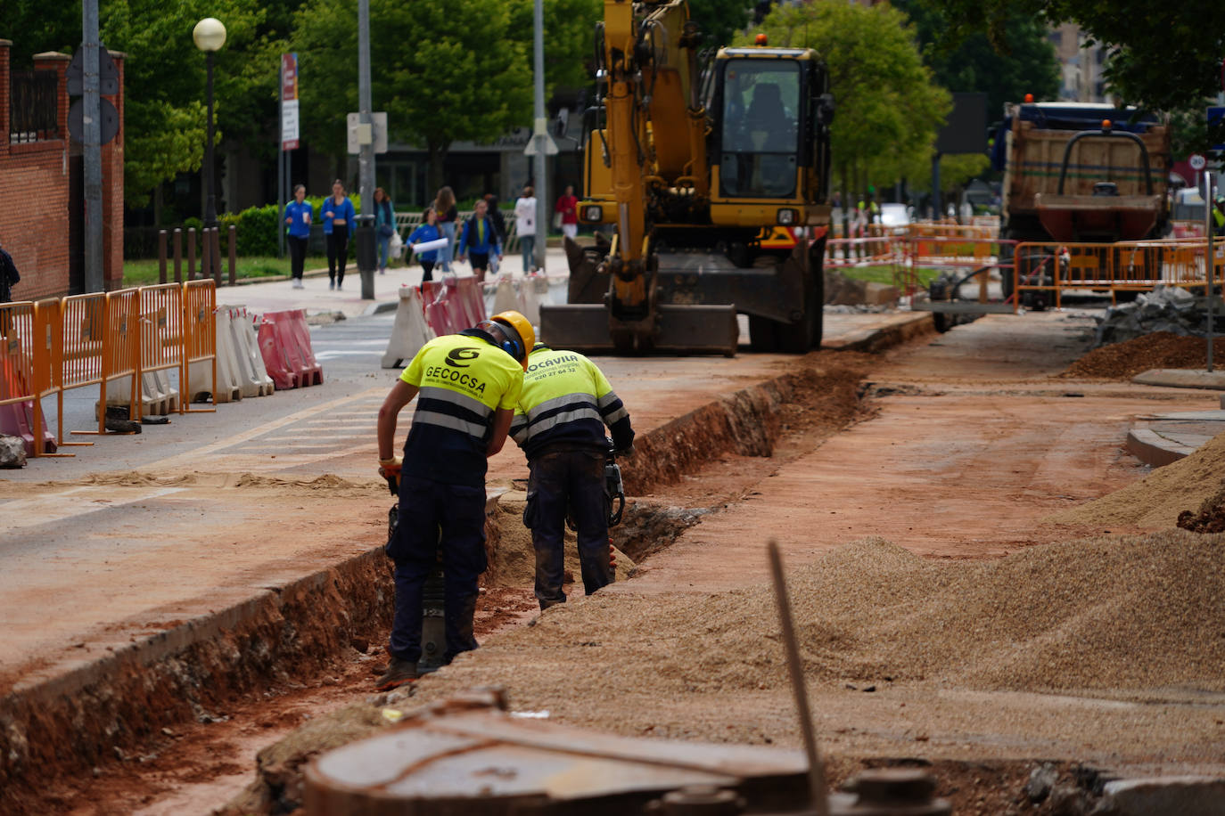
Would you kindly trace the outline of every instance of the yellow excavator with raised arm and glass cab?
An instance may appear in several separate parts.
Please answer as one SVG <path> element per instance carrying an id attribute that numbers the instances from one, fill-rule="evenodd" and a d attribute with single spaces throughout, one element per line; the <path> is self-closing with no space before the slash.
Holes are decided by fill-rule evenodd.
<path id="1" fill-rule="evenodd" d="M 703 53 L 685 0 L 605 0 L 595 81 L 578 218 L 597 241 L 566 239 L 567 303 L 541 307 L 541 338 L 730 356 L 739 312 L 753 350 L 820 346 L 834 100 L 817 53 L 764 35 Z"/>

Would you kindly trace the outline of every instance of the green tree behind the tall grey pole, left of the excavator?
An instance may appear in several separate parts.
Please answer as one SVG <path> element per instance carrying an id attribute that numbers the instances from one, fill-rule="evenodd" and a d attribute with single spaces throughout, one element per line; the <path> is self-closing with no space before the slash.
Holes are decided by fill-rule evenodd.
<path id="1" fill-rule="evenodd" d="M 425 146 L 431 188 L 452 142 L 491 141 L 532 119 L 528 50 L 510 20 L 499 0 L 370 0 L 374 105 L 397 138 Z M 344 113 L 358 105 L 356 21 L 355 0 L 310 0 L 293 38 L 304 131 L 337 157 Z"/>

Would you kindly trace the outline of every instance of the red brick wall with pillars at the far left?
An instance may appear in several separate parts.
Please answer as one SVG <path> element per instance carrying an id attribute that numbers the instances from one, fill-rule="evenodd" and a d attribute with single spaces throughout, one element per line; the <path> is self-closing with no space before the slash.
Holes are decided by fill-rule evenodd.
<path id="1" fill-rule="evenodd" d="M 13 289 L 17 300 L 59 297 L 71 292 L 69 279 L 70 149 L 67 135 L 69 95 L 65 54 L 39 54 L 37 71 L 55 71 L 59 87 L 56 120 L 59 138 L 29 143 L 10 139 L 10 53 L 11 40 L 0 39 L 0 190 L 10 206 L 0 213 L 0 246 L 12 256 L 21 273 Z M 107 289 L 123 279 L 124 264 L 124 143 L 123 143 L 123 55 L 113 55 L 119 66 L 120 93 L 108 97 L 120 111 L 119 136 L 103 147 L 103 278 Z M 21 67 L 21 66 L 18 66 Z M 80 229 L 80 225 L 77 226 Z"/>

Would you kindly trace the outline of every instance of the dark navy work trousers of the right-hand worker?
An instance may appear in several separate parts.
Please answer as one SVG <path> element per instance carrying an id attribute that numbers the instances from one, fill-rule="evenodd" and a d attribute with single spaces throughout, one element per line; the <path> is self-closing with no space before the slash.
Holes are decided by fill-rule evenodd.
<path id="1" fill-rule="evenodd" d="M 583 588 L 592 595 L 612 582 L 609 566 L 609 516 L 604 498 L 604 454 L 586 450 L 549 453 L 528 462 L 528 506 L 537 557 L 535 596 L 540 608 L 564 603 L 566 509 L 578 527 Z"/>

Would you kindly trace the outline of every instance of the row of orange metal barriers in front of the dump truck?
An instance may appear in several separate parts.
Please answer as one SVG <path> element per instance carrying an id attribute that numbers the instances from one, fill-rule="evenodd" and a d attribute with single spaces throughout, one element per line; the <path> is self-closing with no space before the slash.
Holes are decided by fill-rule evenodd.
<path id="1" fill-rule="evenodd" d="M 1208 242 L 1193 240 L 1057 243 L 1027 241 L 1017 246 L 1018 291 L 1050 291 L 1060 306 L 1067 289 L 1148 291 L 1158 285 L 1203 286 L 1209 276 Z M 1214 253 L 1215 254 L 1215 253 Z M 1225 257 L 1212 264 L 1221 279 Z"/>

